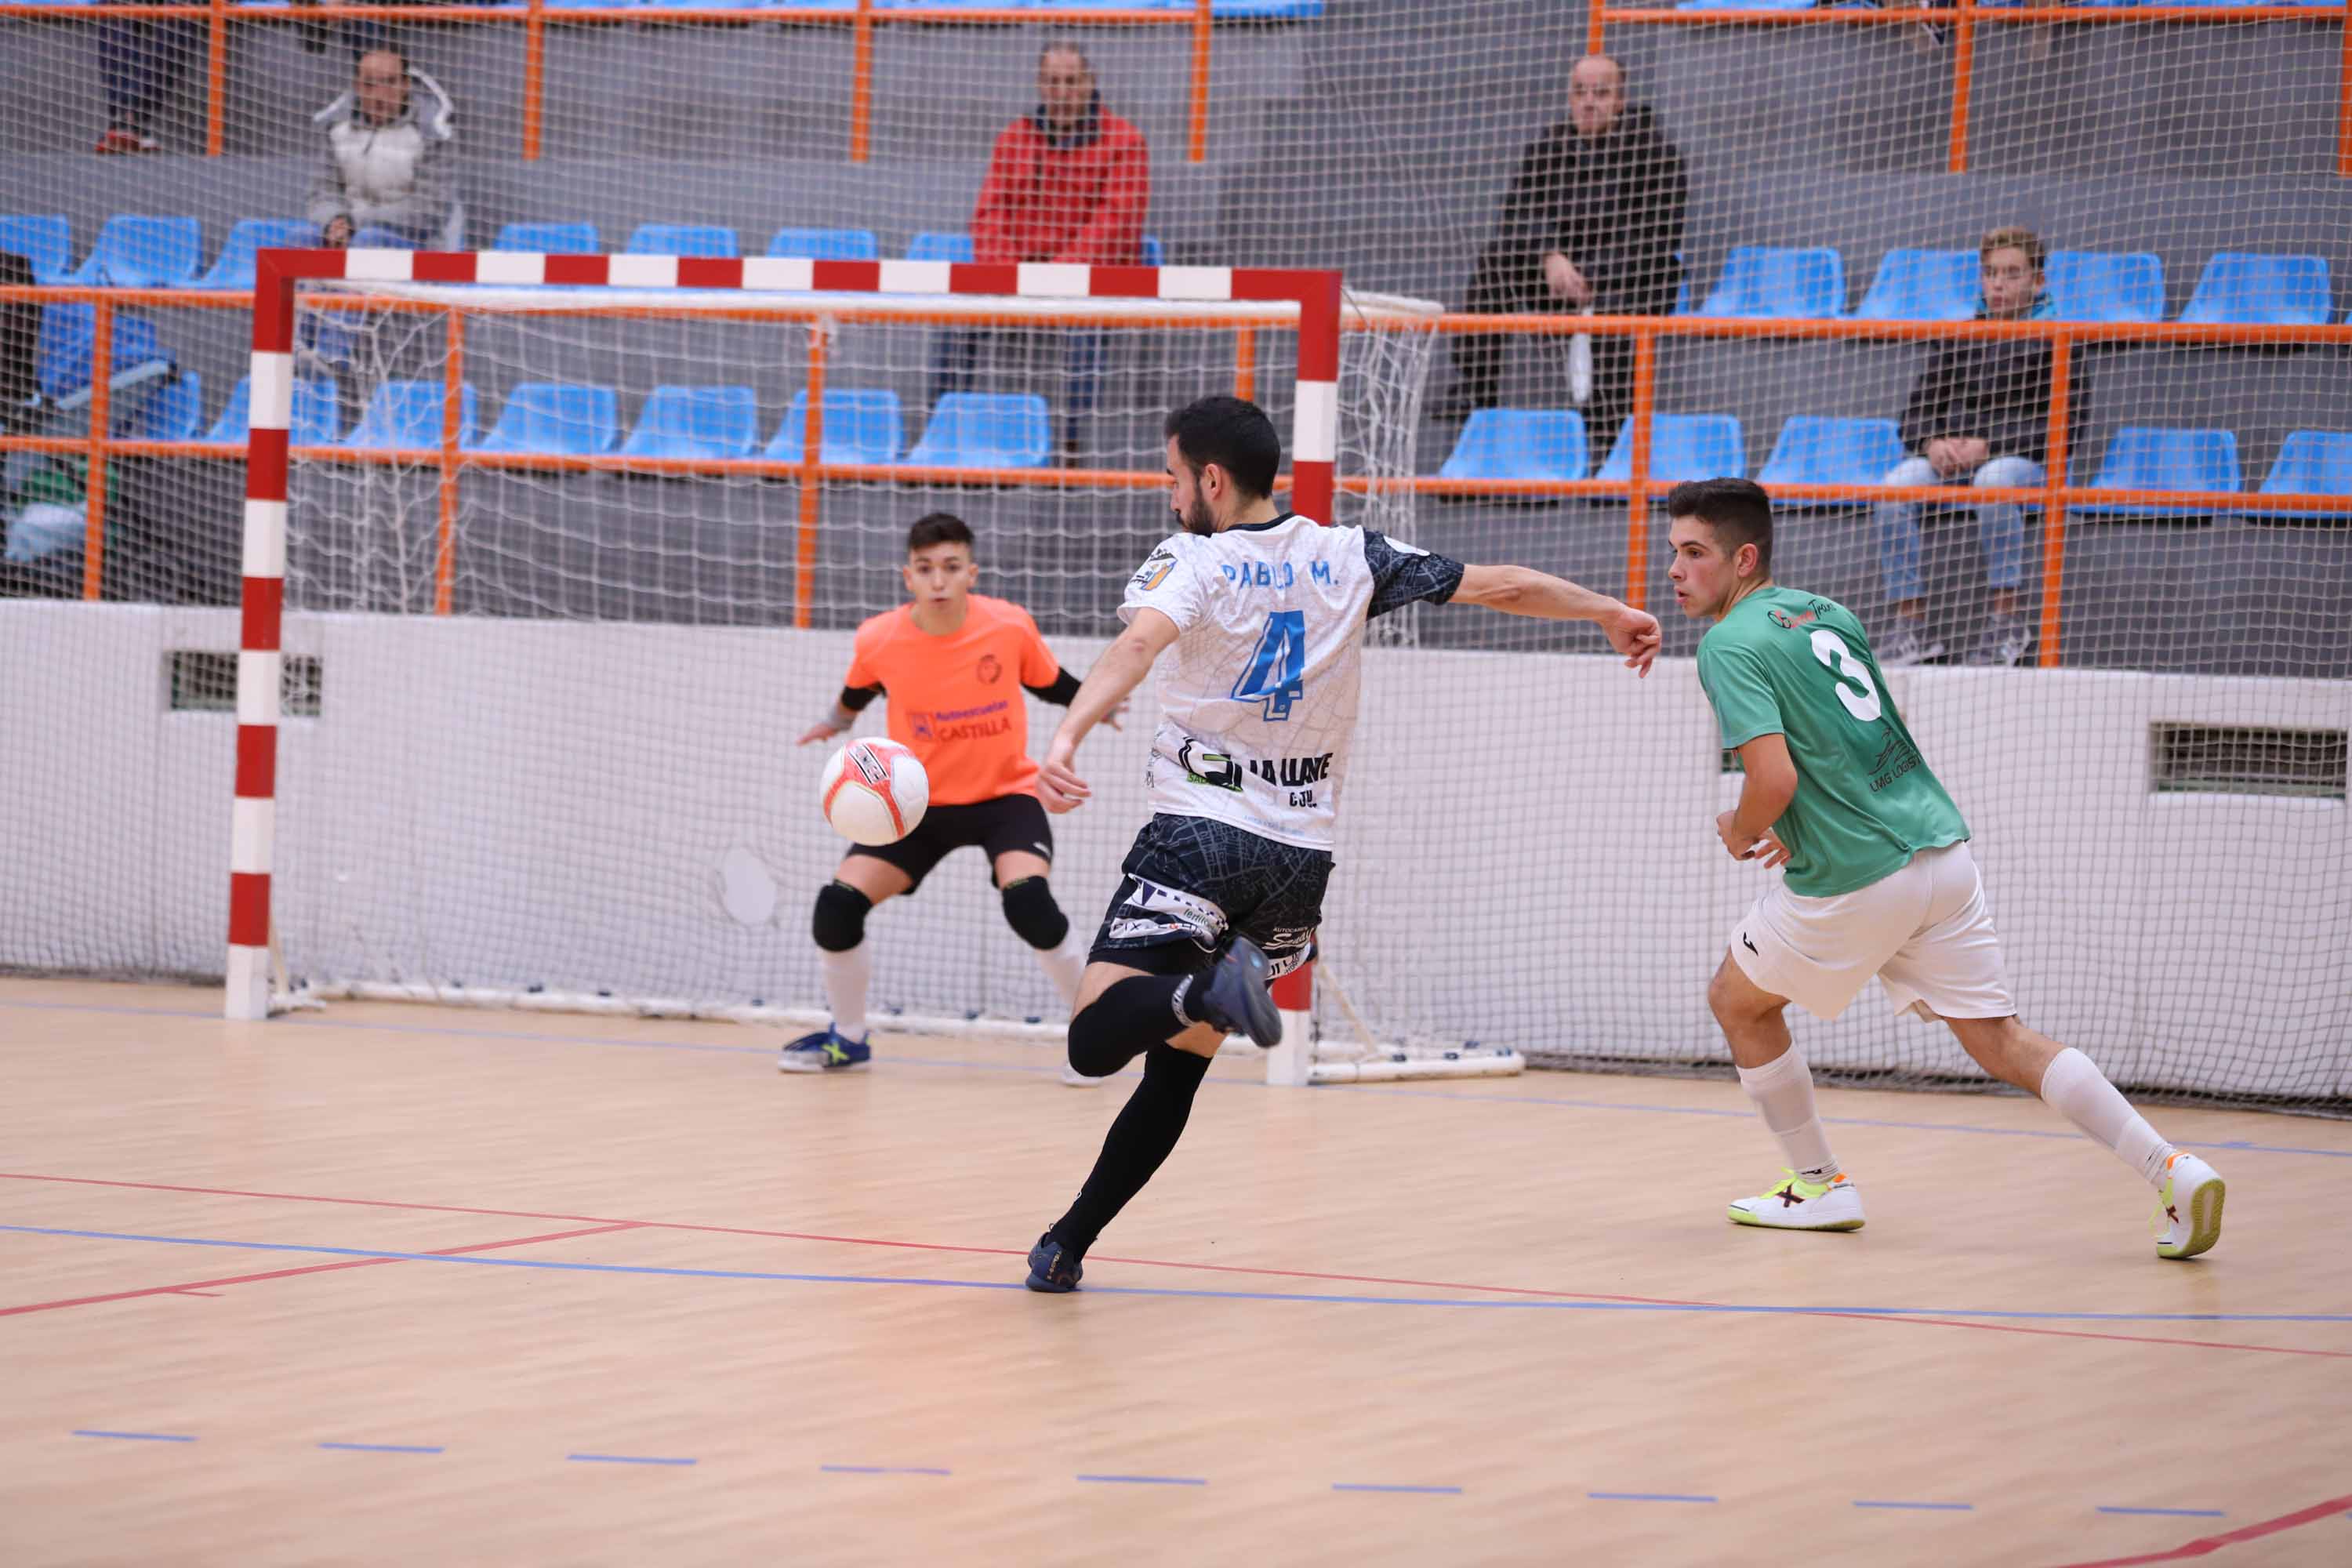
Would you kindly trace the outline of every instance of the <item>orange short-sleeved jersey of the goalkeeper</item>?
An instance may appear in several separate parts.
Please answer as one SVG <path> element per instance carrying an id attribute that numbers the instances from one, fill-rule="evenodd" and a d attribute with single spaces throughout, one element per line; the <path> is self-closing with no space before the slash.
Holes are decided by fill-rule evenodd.
<path id="1" fill-rule="evenodd" d="M 861 625 L 842 684 L 887 693 L 889 738 L 922 757 L 934 806 L 969 806 L 1037 792 L 1021 689 L 1058 675 L 1025 609 L 971 595 L 946 637 L 920 630 L 913 604 Z"/>

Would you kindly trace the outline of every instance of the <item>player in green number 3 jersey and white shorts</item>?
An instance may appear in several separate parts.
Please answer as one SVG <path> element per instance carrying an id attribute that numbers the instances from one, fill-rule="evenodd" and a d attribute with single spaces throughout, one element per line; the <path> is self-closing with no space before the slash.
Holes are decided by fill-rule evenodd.
<path id="1" fill-rule="evenodd" d="M 2002 945 L 1969 856 L 1969 823 L 1919 757 L 1863 623 L 1771 578 L 1771 498 L 1748 480 L 1677 484 L 1675 602 L 1715 625 L 1698 682 L 1740 804 L 1715 818 L 1736 860 L 1785 865 L 1740 922 L 1708 987 L 1740 1088 L 1788 1152 L 1740 1225 L 1860 1229 L 1863 1197 L 1830 1154 L 1813 1074 L 1790 1044 L 1790 1001 L 1837 1018 L 1870 976 L 1896 1011 L 1940 1018 L 1985 1072 L 2042 1095 L 2157 1190 L 2157 1255 L 2220 1239 L 2223 1180 L 2164 1143 L 2082 1051 L 2018 1023 Z"/>

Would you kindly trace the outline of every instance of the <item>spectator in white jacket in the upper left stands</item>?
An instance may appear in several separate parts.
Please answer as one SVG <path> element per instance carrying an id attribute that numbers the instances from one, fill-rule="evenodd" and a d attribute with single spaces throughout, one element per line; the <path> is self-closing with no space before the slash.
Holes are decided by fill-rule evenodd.
<path id="1" fill-rule="evenodd" d="M 383 45 L 360 56 L 350 92 L 313 115 L 327 132 L 327 160 L 310 186 L 310 221 L 327 244 L 463 244 L 466 214 L 449 158 L 456 106 L 442 85 Z"/>

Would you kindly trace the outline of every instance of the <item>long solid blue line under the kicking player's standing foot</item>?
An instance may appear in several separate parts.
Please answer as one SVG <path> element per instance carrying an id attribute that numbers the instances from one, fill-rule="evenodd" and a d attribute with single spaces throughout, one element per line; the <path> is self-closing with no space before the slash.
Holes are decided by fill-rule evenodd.
<path id="1" fill-rule="evenodd" d="M 0 1234 L 78 1237 L 85 1241 L 148 1241 L 155 1246 L 214 1246 L 238 1253 L 306 1253 L 322 1258 L 383 1258 L 390 1262 L 440 1262 L 470 1269 L 550 1269 L 562 1274 L 642 1274 L 652 1279 L 748 1279 L 807 1286 L 913 1286 L 927 1291 L 1023 1291 L 1018 1279 L 922 1279 L 898 1274 L 797 1274 L 769 1269 L 680 1269 L 642 1262 L 560 1262 L 553 1258 L 492 1258 L 473 1253 L 395 1253 L 369 1246 L 310 1246 L 299 1241 L 226 1241 L 219 1237 L 143 1237 L 115 1229 L 59 1229 L 52 1225 L 0 1225 Z M 1661 1312 L 1715 1316 L 1957 1316 L 2032 1324 L 2352 1324 L 2352 1312 L 2013 1312 L 1985 1307 L 1771 1307 L 1750 1302 L 1592 1302 L 1458 1295 L 1319 1295 L 1305 1291 L 1207 1291 L 1183 1286 L 1087 1286 L 1089 1295 L 1150 1295 L 1174 1300 L 1301 1302 L 1322 1307 L 1456 1307 L 1468 1312 Z"/>

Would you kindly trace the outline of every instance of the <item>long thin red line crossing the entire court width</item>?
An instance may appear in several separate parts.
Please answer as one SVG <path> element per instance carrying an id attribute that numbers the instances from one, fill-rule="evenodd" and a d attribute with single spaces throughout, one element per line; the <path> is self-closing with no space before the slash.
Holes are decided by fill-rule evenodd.
<path id="1" fill-rule="evenodd" d="M 414 1208 L 421 1213 L 475 1213 L 475 1215 L 499 1215 L 510 1220 L 579 1220 L 583 1225 L 609 1225 L 614 1229 L 684 1229 L 713 1237 L 764 1237 L 769 1241 L 833 1241 L 840 1246 L 884 1246 L 894 1251 L 917 1251 L 917 1253 L 964 1253 L 971 1258 L 1023 1258 L 1025 1253 L 1016 1246 L 957 1246 L 953 1241 L 884 1241 L 880 1237 L 833 1237 L 823 1232 L 807 1229 L 757 1229 L 750 1225 L 694 1225 L 687 1220 L 609 1220 L 602 1215 L 586 1213 L 546 1213 L 534 1208 L 470 1208 L 461 1204 L 402 1204 L 395 1199 L 341 1199 L 320 1197 L 310 1192 L 252 1192 L 245 1187 L 186 1187 L 179 1182 L 125 1182 L 108 1180 L 101 1175 L 40 1175 L 33 1171 L 0 1171 L 0 1180 L 12 1182 L 66 1182 L 73 1187 L 129 1187 L 136 1192 L 188 1192 L 198 1197 L 233 1197 L 233 1199 L 273 1199 L 282 1204 L 339 1204 L 350 1208 Z M 1249 1274 L 1256 1279 L 1319 1279 L 1327 1284 L 1350 1284 L 1350 1286 L 1399 1286 L 1409 1291 L 1465 1291 L 1477 1295 L 1531 1295 L 1538 1300 L 1602 1300 L 1602 1302 L 1632 1302 L 1639 1307 L 1712 1307 L 1717 1302 L 1684 1300 L 1675 1295 L 1604 1295 L 1597 1291 L 1536 1291 L 1526 1286 L 1468 1286 L 1454 1279 L 1395 1279 L 1388 1274 L 1327 1274 L 1317 1269 L 1265 1269 L 1237 1262 L 1178 1262 L 1169 1258 L 1115 1258 L 1101 1255 L 1094 1262 L 1124 1262 L 1129 1267 L 1145 1269 L 1195 1269 L 1204 1274 Z M 1856 1324 L 1917 1324 L 1922 1328 L 1978 1328 L 1985 1333 L 2030 1333 L 2058 1340 L 2112 1340 L 2117 1345 L 2178 1345 L 2187 1349 L 2234 1349 L 2253 1352 L 2265 1356 L 2321 1356 L 2328 1361 L 2352 1361 L 2352 1352 L 2345 1349 L 2305 1349 L 2296 1345 L 2239 1345 L 2232 1340 L 2180 1340 L 2166 1335 L 2147 1333 L 2100 1333 L 2096 1328 L 2032 1328 L 2025 1324 L 1980 1324 L 1973 1319 L 1943 1319 L 1943 1316 L 1891 1316 L 1884 1312 L 1813 1312 L 1811 1316 L 1844 1319 Z"/>

